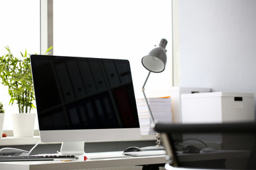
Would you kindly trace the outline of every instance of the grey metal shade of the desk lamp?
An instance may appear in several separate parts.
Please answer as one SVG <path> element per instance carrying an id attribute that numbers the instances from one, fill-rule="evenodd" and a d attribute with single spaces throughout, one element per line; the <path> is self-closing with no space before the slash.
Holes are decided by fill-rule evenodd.
<path id="1" fill-rule="evenodd" d="M 167 57 L 165 47 L 167 45 L 167 40 L 161 39 L 159 47 L 154 48 L 142 58 L 142 65 L 148 69 L 150 72 L 163 72 L 165 69 Z"/>

